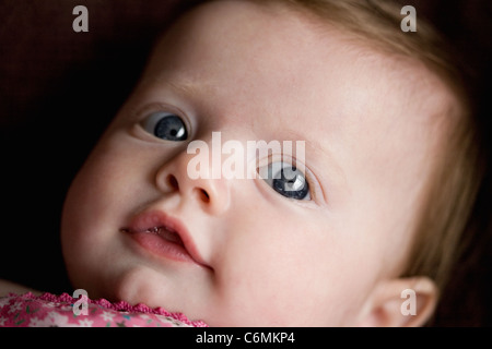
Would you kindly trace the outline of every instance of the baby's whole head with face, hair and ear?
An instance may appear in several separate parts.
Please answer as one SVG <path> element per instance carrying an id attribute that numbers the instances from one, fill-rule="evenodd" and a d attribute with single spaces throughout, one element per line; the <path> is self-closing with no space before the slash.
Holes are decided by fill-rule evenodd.
<path id="1" fill-rule="evenodd" d="M 68 193 L 73 285 L 212 326 L 425 324 L 472 200 L 468 107 L 426 28 L 371 3 L 174 23 Z"/>

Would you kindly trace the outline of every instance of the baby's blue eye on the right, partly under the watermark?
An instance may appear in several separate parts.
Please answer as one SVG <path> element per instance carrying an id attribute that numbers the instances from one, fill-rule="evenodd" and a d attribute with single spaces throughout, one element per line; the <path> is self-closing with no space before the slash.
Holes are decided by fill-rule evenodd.
<path id="1" fill-rule="evenodd" d="M 294 200 L 311 200 L 306 177 L 295 166 L 286 163 L 271 163 L 259 170 L 276 192 Z"/>

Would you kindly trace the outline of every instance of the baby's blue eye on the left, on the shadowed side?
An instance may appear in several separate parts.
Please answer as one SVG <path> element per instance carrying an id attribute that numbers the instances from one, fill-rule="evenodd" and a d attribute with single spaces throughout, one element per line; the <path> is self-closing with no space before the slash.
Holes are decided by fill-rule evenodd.
<path id="1" fill-rule="evenodd" d="M 185 122 L 171 112 L 153 112 L 147 117 L 142 125 L 147 132 L 161 140 L 179 142 L 188 139 Z"/>

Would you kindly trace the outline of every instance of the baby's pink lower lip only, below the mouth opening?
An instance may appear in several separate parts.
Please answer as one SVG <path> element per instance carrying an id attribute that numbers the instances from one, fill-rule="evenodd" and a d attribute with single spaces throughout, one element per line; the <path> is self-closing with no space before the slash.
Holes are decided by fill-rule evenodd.
<path id="1" fill-rule="evenodd" d="M 178 262 L 195 263 L 195 260 L 181 246 L 151 232 L 130 232 L 130 237 L 152 254 Z"/>

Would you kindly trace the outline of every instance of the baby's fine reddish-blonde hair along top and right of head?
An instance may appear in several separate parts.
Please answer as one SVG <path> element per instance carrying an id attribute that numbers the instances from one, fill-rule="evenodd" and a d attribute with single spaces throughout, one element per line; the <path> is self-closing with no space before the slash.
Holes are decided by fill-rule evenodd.
<path id="1" fill-rule="evenodd" d="M 209 0 L 218 1 L 218 0 Z M 390 55 L 422 62 L 456 97 L 449 113 L 450 134 L 435 159 L 420 207 L 407 268 L 401 276 L 423 275 L 443 290 L 458 257 L 471 238 L 470 217 L 483 177 L 473 109 L 460 68 L 450 47 L 422 19 L 417 32 L 400 28 L 401 5 L 383 0 L 245 0 L 259 5 L 280 3 L 336 24 L 361 43 Z M 197 3 L 197 1 L 195 1 Z M 207 1 L 198 1 L 202 3 Z M 453 119 L 453 120 L 452 120 Z"/>

